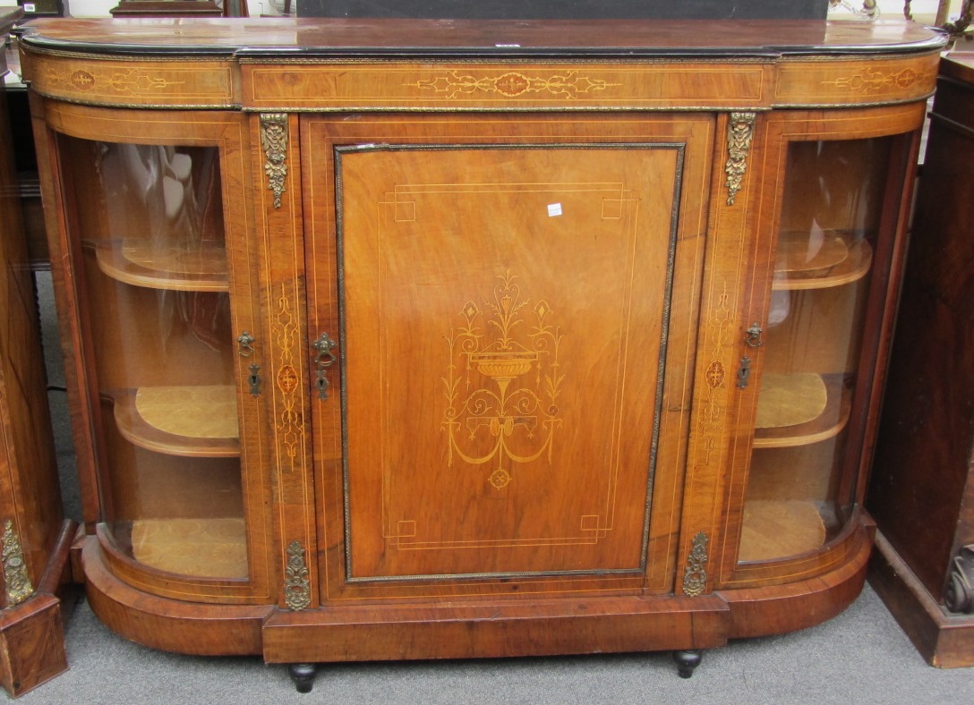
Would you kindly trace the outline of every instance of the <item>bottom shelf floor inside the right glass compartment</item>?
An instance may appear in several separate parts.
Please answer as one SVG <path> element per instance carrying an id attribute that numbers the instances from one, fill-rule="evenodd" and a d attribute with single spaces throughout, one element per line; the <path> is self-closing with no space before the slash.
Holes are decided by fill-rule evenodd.
<path id="1" fill-rule="evenodd" d="M 737 560 L 797 556 L 820 548 L 825 537 L 825 523 L 813 501 L 747 501 Z"/>

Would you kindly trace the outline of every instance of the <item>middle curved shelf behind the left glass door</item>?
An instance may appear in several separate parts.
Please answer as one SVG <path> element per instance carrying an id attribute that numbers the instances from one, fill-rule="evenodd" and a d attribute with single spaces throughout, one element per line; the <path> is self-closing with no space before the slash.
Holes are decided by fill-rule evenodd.
<path id="1" fill-rule="evenodd" d="M 235 387 L 143 387 L 112 396 L 119 430 L 140 448 L 193 458 L 241 454 Z"/>

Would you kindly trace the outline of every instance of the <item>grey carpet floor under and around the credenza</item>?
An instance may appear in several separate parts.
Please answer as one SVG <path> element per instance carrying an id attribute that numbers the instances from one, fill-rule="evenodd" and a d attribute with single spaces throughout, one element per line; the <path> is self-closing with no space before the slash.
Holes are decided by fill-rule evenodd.
<path id="1" fill-rule="evenodd" d="M 63 385 L 50 277 L 38 277 L 52 385 Z M 51 393 L 67 516 L 81 514 L 64 395 Z M 68 606 L 65 606 L 68 607 Z M 328 703 L 329 705 L 938 705 L 974 703 L 974 668 L 940 670 L 919 656 L 868 586 L 852 606 L 794 634 L 706 651 L 690 680 L 669 653 L 331 664 L 311 693 L 258 657 L 205 658 L 146 649 L 104 627 L 84 600 L 65 623 L 70 670 L 18 702 Z"/>

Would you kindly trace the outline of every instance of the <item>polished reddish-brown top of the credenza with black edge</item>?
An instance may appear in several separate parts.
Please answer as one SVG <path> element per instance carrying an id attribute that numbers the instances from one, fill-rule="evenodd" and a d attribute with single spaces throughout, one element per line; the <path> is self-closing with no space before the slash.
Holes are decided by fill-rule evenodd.
<path id="1" fill-rule="evenodd" d="M 253 60 L 352 58 L 639 59 L 888 55 L 943 49 L 942 32 L 906 21 L 45 19 L 24 47 L 100 56 Z"/>

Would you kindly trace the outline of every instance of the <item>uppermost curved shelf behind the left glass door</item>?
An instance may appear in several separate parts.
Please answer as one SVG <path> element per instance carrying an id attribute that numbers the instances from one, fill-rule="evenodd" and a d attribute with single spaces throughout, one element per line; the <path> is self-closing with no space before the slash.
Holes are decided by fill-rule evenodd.
<path id="1" fill-rule="evenodd" d="M 180 291 L 229 291 L 226 248 L 215 243 L 157 245 L 149 241 L 94 243 L 98 269 L 133 286 Z"/>

